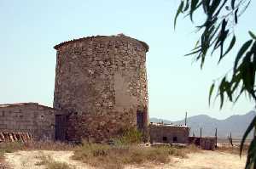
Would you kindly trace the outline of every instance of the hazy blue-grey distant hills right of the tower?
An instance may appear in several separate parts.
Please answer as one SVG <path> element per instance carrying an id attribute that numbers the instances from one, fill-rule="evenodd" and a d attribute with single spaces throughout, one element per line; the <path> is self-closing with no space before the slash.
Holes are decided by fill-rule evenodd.
<path id="1" fill-rule="evenodd" d="M 247 129 L 247 126 L 253 120 L 256 115 L 255 111 L 250 111 L 246 115 L 232 115 L 227 119 L 218 120 L 208 115 L 195 115 L 188 117 L 187 125 L 191 128 L 190 135 L 195 133 L 195 136 L 200 136 L 200 128 L 202 127 L 202 136 L 214 136 L 215 128 L 218 128 L 218 138 L 227 138 L 232 132 L 232 138 L 241 138 L 243 132 Z M 168 121 L 157 118 L 150 118 L 150 122 L 172 123 L 172 124 L 184 124 L 183 121 Z M 252 137 L 252 133 L 251 133 Z"/>

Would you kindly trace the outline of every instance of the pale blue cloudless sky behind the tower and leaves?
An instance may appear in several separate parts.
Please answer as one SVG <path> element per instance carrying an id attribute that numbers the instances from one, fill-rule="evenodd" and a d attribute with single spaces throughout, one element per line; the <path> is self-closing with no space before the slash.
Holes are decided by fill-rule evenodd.
<path id="1" fill-rule="evenodd" d="M 172 121 L 207 114 L 218 119 L 245 114 L 253 103 L 207 104 L 212 80 L 233 64 L 236 50 L 217 65 L 207 59 L 203 70 L 184 57 L 197 40 L 193 25 L 180 18 L 173 30 L 179 0 L 15 1 L 0 0 L 0 104 L 38 102 L 51 106 L 55 85 L 55 44 L 73 38 L 124 33 L 147 42 L 149 115 Z M 252 2 L 236 28 L 238 41 L 255 28 Z M 196 17 L 200 17 L 196 15 Z M 255 30 L 255 29 L 254 29 Z M 238 45 L 241 43 L 238 43 Z"/>

